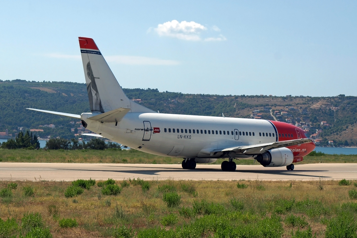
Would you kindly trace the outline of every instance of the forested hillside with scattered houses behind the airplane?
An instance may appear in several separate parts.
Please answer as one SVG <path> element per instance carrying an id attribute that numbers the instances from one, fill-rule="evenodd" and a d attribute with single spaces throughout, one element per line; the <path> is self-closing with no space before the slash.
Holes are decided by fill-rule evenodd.
<path id="1" fill-rule="evenodd" d="M 244 117 L 288 121 L 309 130 L 318 131 L 318 137 L 348 145 L 357 144 L 357 97 L 266 96 L 266 95 L 206 95 L 178 92 L 159 92 L 157 89 L 125 89 L 130 99 L 160 113 L 177 113 L 204 116 Z M 25 108 L 80 114 L 89 112 L 85 83 L 35 82 L 25 80 L 0 80 L 0 131 L 17 132 L 18 127 L 39 128 L 54 124 L 55 129 L 45 128 L 44 134 L 73 137 L 69 125 L 71 118 L 34 112 Z M 255 111 L 254 110 L 259 110 Z M 278 113 L 274 113 L 278 111 Z M 282 113 L 286 112 L 286 113 Z M 284 115 L 282 115 L 284 114 Z M 321 125 L 326 121 L 326 125 Z M 356 124 L 357 125 L 357 124 Z M 14 131 L 15 130 L 15 131 Z M 356 131 L 356 134 L 354 133 Z"/>

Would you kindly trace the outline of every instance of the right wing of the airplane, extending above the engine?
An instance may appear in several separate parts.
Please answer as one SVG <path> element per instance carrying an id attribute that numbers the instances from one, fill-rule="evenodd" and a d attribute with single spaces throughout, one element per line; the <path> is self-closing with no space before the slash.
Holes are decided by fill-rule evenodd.
<path id="1" fill-rule="evenodd" d="M 224 151 L 243 153 L 245 155 L 259 155 L 266 152 L 267 150 L 287 147 L 287 146 L 301 145 L 310 142 L 313 142 L 312 139 L 303 138 L 303 139 L 279 141 L 279 142 L 272 142 L 272 143 L 265 143 L 265 144 L 258 144 L 258 145 L 237 146 L 237 147 L 213 150 L 211 151 L 211 155 L 214 155 L 214 153 L 216 152 L 224 152 Z"/>

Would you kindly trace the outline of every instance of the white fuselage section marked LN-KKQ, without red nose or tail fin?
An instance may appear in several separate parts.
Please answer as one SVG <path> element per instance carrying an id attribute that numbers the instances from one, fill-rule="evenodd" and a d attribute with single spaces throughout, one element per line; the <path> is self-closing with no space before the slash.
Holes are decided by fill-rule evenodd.
<path id="1" fill-rule="evenodd" d="M 212 150 L 277 141 L 275 128 L 267 120 L 127 113 L 118 123 L 101 123 L 87 119 L 92 115 L 82 113 L 87 129 L 130 148 L 161 156 L 212 158 Z"/>

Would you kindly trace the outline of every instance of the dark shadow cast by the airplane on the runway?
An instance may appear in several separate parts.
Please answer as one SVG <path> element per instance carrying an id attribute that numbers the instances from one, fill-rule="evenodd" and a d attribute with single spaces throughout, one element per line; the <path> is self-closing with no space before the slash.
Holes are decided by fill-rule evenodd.
<path id="1" fill-rule="evenodd" d="M 150 167 L 147 170 L 121 170 L 122 168 L 138 168 L 135 166 L 107 166 L 107 167 L 117 167 L 118 169 L 61 169 L 61 170 L 75 170 L 75 171 L 100 171 L 100 172 L 116 172 L 116 173 L 132 173 L 132 174 L 143 174 L 143 175 L 158 175 L 160 172 L 185 172 L 185 173 L 193 173 L 193 172 L 219 172 L 221 169 L 208 169 L 208 168 L 196 168 L 196 169 L 167 169 L 163 167 Z M 153 168 L 153 169 L 152 169 Z M 318 176 L 318 175 L 310 175 L 310 174 L 301 174 L 302 172 L 327 172 L 327 170 L 295 170 L 295 171 L 282 171 L 282 170 L 236 170 L 235 172 L 224 172 L 222 173 L 256 173 L 256 174 L 274 174 L 274 175 L 289 175 L 292 177 L 295 176 L 303 176 L 303 177 L 315 177 L 315 178 L 331 178 L 329 176 Z"/>

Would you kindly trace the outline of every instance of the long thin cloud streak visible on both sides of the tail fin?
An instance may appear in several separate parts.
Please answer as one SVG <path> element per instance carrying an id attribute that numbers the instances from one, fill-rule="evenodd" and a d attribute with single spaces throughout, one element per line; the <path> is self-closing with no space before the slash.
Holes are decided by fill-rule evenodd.
<path id="1" fill-rule="evenodd" d="M 80 60 L 80 55 L 63 55 L 63 54 L 45 54 L 47 57 L 57 59 Z M 107 62 L 123 65 L 179 65 L 180 61 L 176 60 L 161 60 L 145 56 L 129 56 L 129 55 L 112 55 L 104 57 Z"/>

